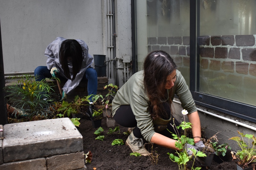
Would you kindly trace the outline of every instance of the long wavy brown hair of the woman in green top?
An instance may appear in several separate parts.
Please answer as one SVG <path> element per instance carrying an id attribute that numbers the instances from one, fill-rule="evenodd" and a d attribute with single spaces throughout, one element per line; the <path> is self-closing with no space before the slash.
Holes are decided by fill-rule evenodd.
<path id="1" fill-rule="evenodd" d="M 164 51 L 152 51 L 149 53 L 144 61 L 144 86 L 150 101 L 150 113 L 153 119 L 162 117 L 163 114 L 163 102 L 164 87 L 166 85 L 167 76 L 169 76 L 173 70 L 176 70 L 177 66 L 174 63 L 171 56 Z M 171 93 L 169 93 L 169 104 L 171 107 Z"/>

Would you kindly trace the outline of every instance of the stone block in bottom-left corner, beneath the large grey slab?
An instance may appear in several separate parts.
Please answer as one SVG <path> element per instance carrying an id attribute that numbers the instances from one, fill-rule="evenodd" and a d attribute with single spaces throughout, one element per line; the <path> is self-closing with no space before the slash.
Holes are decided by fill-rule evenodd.
<path id="1" fill-rule="evenodd" d="M 47 170 L 45 158 L 29 159 L 5 163 L 0 165 L 1 170 Z"/>

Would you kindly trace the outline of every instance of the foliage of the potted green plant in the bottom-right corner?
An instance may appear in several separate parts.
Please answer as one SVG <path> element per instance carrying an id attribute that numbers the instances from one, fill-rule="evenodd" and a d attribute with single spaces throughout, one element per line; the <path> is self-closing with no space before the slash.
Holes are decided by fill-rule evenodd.
<path id="1" fill-rule="evenodd" d="M 255 165 L 254 162 L 256 162 L 256 152 L 255 152 L 255 142 L 256 138 L 254 135 L 244 134 L 239 131 L 237 131 L 240 137 L 231 137 L 228 140 L 234 140 L 238 144 L 238 146 L 241 148 L 241 150 L 238 150 L 237 152 L 231 151 L 233 160 L 238 159 L 238 165 L 242 166 L 243 168 L 247 168 L 249 165 Z M 247 138 L 248 144 L 246 144 L 245 139 Z M 242 139 L 242 140 L 241 140 Z M 250 140 L 252 140 L 252 143 L 250 143 Z M 254 163 L 254 164 L 252 164 Z"/>

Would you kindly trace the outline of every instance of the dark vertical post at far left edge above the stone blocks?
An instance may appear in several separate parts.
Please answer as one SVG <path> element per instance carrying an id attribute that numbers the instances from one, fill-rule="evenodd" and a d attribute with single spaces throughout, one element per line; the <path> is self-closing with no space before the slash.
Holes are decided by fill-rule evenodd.
<path id="1" fill-rule="evenodd" d="M 4 89 L 4 60 L 3 60 L 3 48 L 2 48 L 2 36 L 1 36 L 1 25 L 0 25 L 0 89 Z M 7 110 L 6 110 L 6 98 L 5 91 L 0 90 L 0 124 L 7 124 Z"/>

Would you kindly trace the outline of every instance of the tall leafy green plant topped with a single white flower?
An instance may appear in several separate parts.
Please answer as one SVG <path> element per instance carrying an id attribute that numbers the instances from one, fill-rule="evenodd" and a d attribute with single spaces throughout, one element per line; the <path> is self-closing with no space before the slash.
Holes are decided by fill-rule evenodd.
<path id="1" fill-rule="evenodd" d="M 191 123 L 190 122 L 185 122 L 185 115 L 187 115 L 188 112 L 186 110 L 182 110 L 182 115 L 183 115 L 183 120 L 184 122 L 181 122 L 180 126 L 175 126 L 175 123 L 174 123 L 174 119 L 173 119 L 173 125 L 172 127 L 174 128 L 176 134 L 172 134 L 173 138 L 176 139 L 177 141 L 175 142 L 175 147 L 178 148 L 178 150 L 176 151 L 176 153 L 178 154 L 178 156 L 175 156 L 174 154 L 172 153 L 167 153 L 169 155 L 169 158 L 173 161 L 173 162 L 176 162 L 178 163 L 179 165 L 179 170 L 187 170 L 187 164 L 188 164 L 188 161 L 189 160 L 192 160 L 193 157 L 205 157 L 206 155 L 201 152 L 201 151 L 198 151 L 196 153 L 196 150 L 195 149 L 190 149 L 193 154 L 188 156 L 188 153 L 186 152 L 186 144 L 194 144 L 194 139 L 191 139 L 191 138 L 188 138 L 186 137 L 186 129 L 189 129 L 191 128 Z M 184 131 L 184 135 L 181 135 L 179 136 L 179 133 L 178 133 L 178 129 L 181 128 L 183 131 Z M 184 152 L 183 152 L 184 151 Z M 195 163 L 195 159 L 193 160 L 193 164 L 192 164 L 192 167 L 191 169 L 192 170 L 199 170 L 201 169 L 201 167 L 196 167 L 196 168 L 193 168 L 194 166 L 194 163 Z"/>

